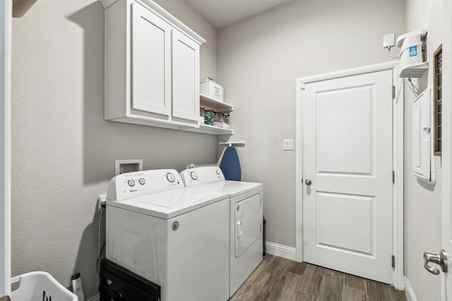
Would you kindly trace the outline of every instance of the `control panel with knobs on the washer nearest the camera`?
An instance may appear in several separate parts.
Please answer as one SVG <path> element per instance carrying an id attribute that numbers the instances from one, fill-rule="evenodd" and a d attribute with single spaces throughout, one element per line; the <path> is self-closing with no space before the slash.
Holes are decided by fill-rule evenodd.
<path id="1" fill-rule="evenodd" d="M 184 183 L 174 169 L 122 173 L 110 181 L 107 199 L 120 201 L 178 188 L 184 188 Z"/>

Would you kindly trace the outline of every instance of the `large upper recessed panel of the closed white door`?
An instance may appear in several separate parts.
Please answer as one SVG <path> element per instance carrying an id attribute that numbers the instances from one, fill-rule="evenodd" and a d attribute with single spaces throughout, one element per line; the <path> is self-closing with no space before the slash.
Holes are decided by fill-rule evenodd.
<path id="1" fill-rule="evenodd" d="M 354 97 L 350 97 L 350 94 Z M 328 92 L 316 94 L 316 173 L 373 174 L 373 141 L 370 139 L 375 131 L 372 116 L 375 113 L 373 95 L 372 89 L 364 90 L 362 86 L 345 89 L 335 87 Z M 359 109 L 362 114 L 357 116 L 352 113 L 353 109 Z M 330 127 L 328 123 L 341 126 Z M 350 133 L 353 135 L 349 135 Z M 338 140 L 337 137 L 345 139 Z M 348 145 L 360 147 L 350 149 Z M 331 152 L 331 149 L 334 149 L 334 152 Z M 346 154 L 355 159 L 354 164 L 342 160 Z"/>

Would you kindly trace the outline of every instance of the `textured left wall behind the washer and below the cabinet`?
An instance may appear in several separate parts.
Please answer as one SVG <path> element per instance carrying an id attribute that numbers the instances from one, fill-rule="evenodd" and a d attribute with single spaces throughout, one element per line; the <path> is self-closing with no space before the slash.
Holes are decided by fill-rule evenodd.
<path id="1" fill-rule="evenodd" d="M 216 75 L 216 30 L 189 7 L 186 25 L 210 38 L 201 76 Z M 144 168 L 216 161 L 216 137 L 103 120 L 104 15 L 95 0 L 37 1 L 13 20 L 12 274 L 81 272 L 95 290 L 97 195 L 114 159 Z M 103 238 L 102 238 L 103 239 Z"/>

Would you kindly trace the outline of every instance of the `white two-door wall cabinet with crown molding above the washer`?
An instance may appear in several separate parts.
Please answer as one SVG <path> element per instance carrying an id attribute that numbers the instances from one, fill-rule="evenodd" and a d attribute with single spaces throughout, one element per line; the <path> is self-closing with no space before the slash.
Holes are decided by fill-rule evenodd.
<path id="1" fill-rule="evenodd" d="M 105 119 L 198 128 L 203 42 L 152 1 L 105 8 Z"/>

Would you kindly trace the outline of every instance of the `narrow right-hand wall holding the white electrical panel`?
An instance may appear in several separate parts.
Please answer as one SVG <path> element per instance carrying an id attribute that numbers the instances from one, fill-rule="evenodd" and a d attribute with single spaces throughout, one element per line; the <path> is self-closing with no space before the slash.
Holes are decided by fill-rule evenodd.
<path id="1" fill-rule="evenodd" d="M 444 39 L 441 1 L 407 1 L 407 32 L 423 28 L 428 31 L 428 60 Z M 417 85 L 420 91 L 432 85 L 433 66 Z M 440 300 L 441 277 L 424 269 L 422 254 L 441 249 L 441 157 L 435 156 L 436 184 L 427 185 L 412 174 L 412 102 L 415 95 L 405 85 L 405 275 L 417 300 Z"/>

